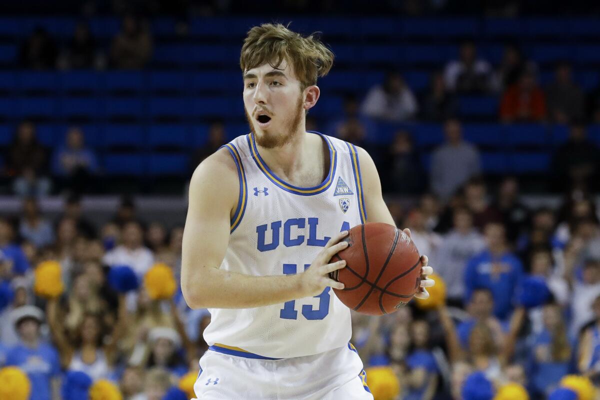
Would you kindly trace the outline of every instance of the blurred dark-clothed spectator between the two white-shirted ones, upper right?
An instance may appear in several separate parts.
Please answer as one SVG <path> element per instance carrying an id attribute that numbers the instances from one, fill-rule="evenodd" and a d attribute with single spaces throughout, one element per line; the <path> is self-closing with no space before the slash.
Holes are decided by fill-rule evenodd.
<path id="1" fill-rule="evenodd" d="M 446 88 L 444 76 L 440 72 L 431 76 L 430 87 L 421 104 L 421 119 L 424 121 L 442 122 L 458 112 L 456 98 Z"/>

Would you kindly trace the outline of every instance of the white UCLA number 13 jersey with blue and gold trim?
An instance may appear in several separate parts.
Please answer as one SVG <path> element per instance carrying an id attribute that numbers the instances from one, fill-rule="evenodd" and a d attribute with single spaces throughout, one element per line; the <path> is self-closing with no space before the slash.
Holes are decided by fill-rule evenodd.
<path id="1" fill-rule="evenodd" d="M 299 188 L 262 160 L 254 134 L 225 147 L 238 167 L 239 201 L 221 269 L 253 276 L 303 272 L 328 240 L 367 219 L 356 148 L 319 134 L 329 147 L 322 184 Z M 347 346 L 350 310 L 331 287 L 319 296 L 258 308 L 209 309 L 212 350 L 251 358 L 309 356 Z"/>

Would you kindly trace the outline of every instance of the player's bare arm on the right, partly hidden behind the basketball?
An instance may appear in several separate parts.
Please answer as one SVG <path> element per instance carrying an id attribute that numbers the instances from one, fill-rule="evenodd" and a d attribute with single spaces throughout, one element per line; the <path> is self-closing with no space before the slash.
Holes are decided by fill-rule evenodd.
<path id="1" fill-rule="evenodd" d="M 389 213 L 388 206 L 383 200 L 381 191 L 381 181 L 377 167 L 373 163 L 371 156 L 365 149 L 356 148 L 358 151 L 358 161 L 361 165 L 362 187 L 365 191 L 365 207 L 367 209 L 367 222 L 385 222 L 386 224 L 396 225 L 394 218 Z M 404 232 L 410 236 L 410 230 L 404 229 Z M 421 288 L 415 293 L 415 297 L 419 299 L 427 299 L 429 293 L 427 288 L 435 284 L 433 279 L 428 279 L 428 276 L 433 273 L 433 268 L 428 266 L 429 260 L 427 255 L 421 256 Z"/>

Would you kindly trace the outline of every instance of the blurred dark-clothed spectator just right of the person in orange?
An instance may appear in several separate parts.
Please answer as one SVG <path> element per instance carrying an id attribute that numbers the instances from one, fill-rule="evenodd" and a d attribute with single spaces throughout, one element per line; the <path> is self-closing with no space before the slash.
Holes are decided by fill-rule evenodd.
<path id="1" fill-rule="evenodd" d="M 562 62 L 556 68 L 554 82 L 546 89 L 548 119 L 558 124 L 568 124 L 583 119 L 585 99 L 583 91 L 573 82 L 571 66 Z"/>

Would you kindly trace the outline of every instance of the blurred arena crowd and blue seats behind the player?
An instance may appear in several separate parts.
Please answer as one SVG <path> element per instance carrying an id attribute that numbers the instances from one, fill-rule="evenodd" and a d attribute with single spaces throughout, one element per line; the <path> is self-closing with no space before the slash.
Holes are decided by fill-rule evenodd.
<path id="1" fill-rule="evenodd" d="M 266 22 L 320 32 L 334 52 L 307 130 L 370 152 L 398 227 L 441 276 L 427 305 L 353 315 L 376 399 L 573 398 L 563 386 L 596 398 L 599 12 L 578 1 L 3 2 L 0 366 L 20 370 L 0 371 L 11 383 L 0 398 L 86 398 L 73 371 L 125 399 L 163 399 L 181 377 L 189 390 L 208 316 L 178 288 L 187 185 L 248 132 L 239 52 Z M 133 285 L 122 266 L 140 287 L 121 299 Z M 170 276 L 172 290 L 153 286 Z M 29 320 L 39 332 L 20 331 Z"/>

